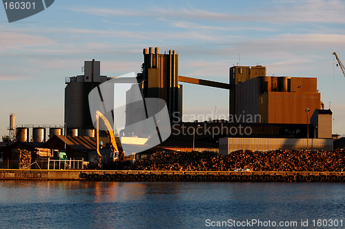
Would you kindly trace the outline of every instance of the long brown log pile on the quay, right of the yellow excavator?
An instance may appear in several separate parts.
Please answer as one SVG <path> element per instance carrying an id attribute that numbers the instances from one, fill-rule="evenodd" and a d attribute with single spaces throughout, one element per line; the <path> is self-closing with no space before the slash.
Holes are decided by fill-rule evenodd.
<path id="1" fill-rule="evenodd" d="M 237 150 L 230 155 L 217 152 L 155 152 L 136 161 L 130 170 L 277 172 L 342 172 L 345 150 L 273 150 L 268 152 Z"/>

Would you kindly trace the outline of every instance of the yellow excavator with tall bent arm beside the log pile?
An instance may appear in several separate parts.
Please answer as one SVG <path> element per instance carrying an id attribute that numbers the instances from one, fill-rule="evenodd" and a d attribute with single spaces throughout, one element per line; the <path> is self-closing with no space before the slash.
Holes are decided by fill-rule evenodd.
<path id="1" fill-rule="evenodd" d="M 103 120 L 104 125 L 106 125 L 106 128 L 108 129 L 108 136 L 110 139 L 110 161 L 123 161 L 124 160 L 124 151 L 119 150 L 117 147 L 117 143 L 115 141 L 115 135 L 112 131 L 112 127 L 108 121 L 108 119 L 99 111 L 96 112 L 96 123 L 97 123 L 97 129 L 96 129 L 96 143 L 97 143 L 97 154 L 99 157 L 99 162 L 101 162 L 101 159 L 103 156 L 101 155 L 101 152 L 99 152 L 99 118 Z"/>

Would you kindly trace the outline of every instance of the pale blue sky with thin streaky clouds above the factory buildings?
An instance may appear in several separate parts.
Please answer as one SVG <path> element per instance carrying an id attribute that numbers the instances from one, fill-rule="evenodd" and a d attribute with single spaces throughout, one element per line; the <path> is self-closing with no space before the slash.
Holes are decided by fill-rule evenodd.
<path id="1" fill-rule="evenodd" d="M 234 64 L 268 75 L 317 77 L 333 133 L 345 134 L 345 1 L 55 1 L 8 23 L 0 6 L 0 135 L 16 125 L 63 125 L 66 77 L 83 61 L 101 74 L 141 72 L 142 50 L 176 50 L 179 75 L 229 82 Z M 228 91 L 184 85 L 184 121 L 228 115 Z M 200 118 L 201 119 L 201 118 Z M 201 120 L 199 120 L 201 121 Z"/>

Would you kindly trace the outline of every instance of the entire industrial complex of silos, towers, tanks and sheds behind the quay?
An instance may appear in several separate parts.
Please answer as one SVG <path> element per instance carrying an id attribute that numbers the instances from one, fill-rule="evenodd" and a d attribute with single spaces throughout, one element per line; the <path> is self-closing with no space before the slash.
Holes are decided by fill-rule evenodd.
<path id="1" fill-rule="evenodd" d="M 227 155 L 240 149 L 331 150 L 333 148 L 333 114 L 331 110 L 324 110 L 324 104 L 320 100 L 321 95 L 317 90 L 316 78 L 267 76 L 264 66 L 233 66 L 229 68 L 229 83 L 221 83 L 179 75 L 179 55 L 175 50 L 161 53 L 159 48 L 151 47 L 144 48 L 143 54 L 142 71 L 137 74 L 139 90 L 132 88 L 127 90 L 126 99 L 130 101 L 139 93 L 144 98 L 164 99 L 172 126 L 170 137 L 151 152 L 212 150 Z M 100 61 L 95 59 L 85 61 L 82 75 L 66 78 L 65 125 L 15 126 L 15 116 L 10 114 L 10 128 L 8 128 L 10 138 L 16 139 L 17 143 L 23 143 L 19 145 L 24 149 L 33 150 L 34 146 L 41 146 L 66 150 L 69 158 L 92 160 L 97 155 L 95 150 L 97 142 L 88 95 L 92 89 L 110 79 L 112 77 L 101 75 Z M 133 79 L 135 81 L 135 77 Z M 182 122 L 183 85 L 181 83 L 228 90 L 229 119 Z M 126 103 L 126 125 L 141 120 L 140 115 L 128 116 L 128 114 L 136 114 L 136 109 L 139 107 L 135 103 Z M 252 118 L 238 119 L 243 115 Z M 50 139 L 46 142 L 47 130 Z M 184 132 L 184 130 L 192 131 Z M 239 132 L 240 130 L 248 130 L 248 132 L 250 130 L 250 133 L 243 134 Z M 132 132 L 130 128 L 123 130 L 122 133 L 125 131 L 127 131 L 125 134 Z M 142 134 L 146 133 L 142 132 Z M 128 139 L 132 141 L 130 137 Z M 106 147 L 102 149 L 104 155 L 108 155 L 110 159 L 110 148 L 107 148 L 110 144 L 105 132 L 101 134 L 100 140 Z M 344 145 L 343 140 L 340 142 L 339 139 L 339 147 Z M 33 143 L 28 143 L 29 141 Z M 120 144 L 118 138 L 116 141 Z M 12 149 L 12 146 L 5 148 L 4 159 L 17 159 L 14 158 L 16 155 L 12 154 Z"/>

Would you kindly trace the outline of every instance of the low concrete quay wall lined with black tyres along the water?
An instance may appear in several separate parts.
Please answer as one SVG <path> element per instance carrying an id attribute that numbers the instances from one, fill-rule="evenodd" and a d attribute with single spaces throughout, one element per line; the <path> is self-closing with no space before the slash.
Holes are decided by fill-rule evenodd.
<path id="1" fill-rule="evenodd" d="M 0 170 L 0 179 L 79 181 L 344 182 L 345 172 Z"/>

